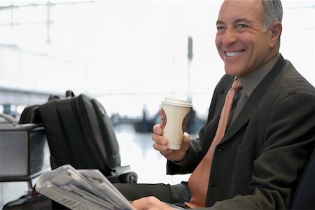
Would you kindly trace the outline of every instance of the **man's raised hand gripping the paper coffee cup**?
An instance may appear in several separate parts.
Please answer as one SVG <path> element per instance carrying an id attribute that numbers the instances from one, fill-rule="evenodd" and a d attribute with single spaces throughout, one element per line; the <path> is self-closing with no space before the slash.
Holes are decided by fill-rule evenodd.
<path id="1" fill-rule="evenodd" d="M 163 130 L 159 124 L 153 126 L 153 132 L 154 134 L 152 135 L 152 139 L 155 142 L 153 144 L 153 148 L 155 148 L 155 150 L 160 151 L 160 153 L 165 156 L 167 160 L 177 162 L 183 160 L 190 144 L 190 136 L 188 133 L 184 133 L 181 149 L 176 151 L 168 148 L 168 140 L 167 138 L 162 137 Z"/>

